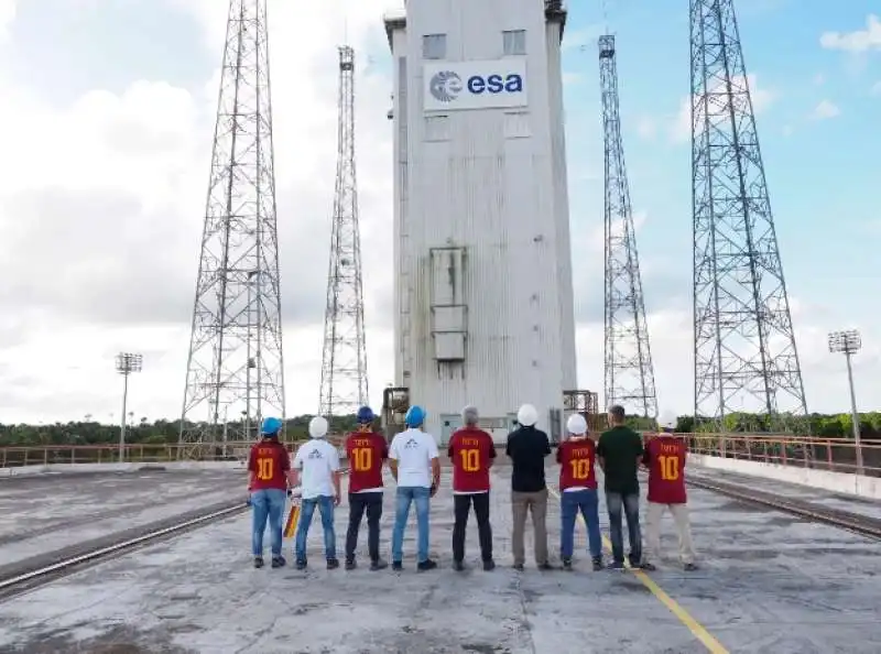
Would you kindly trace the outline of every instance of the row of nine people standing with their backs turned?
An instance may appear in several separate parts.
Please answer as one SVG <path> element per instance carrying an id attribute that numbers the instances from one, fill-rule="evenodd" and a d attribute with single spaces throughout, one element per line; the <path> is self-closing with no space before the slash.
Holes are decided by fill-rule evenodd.
<path id="1" fill-rule="evenodd" d="M 453 567 L 465 569 L 465 535 L 468 517 L 474 510 L 477 519 L 480 555 L 485 570 L 496 567 L 492 556 L 490 524 L 490 469 L 497 458 L 492 437 L 478 426 L 477 408 L 466 406 L 461 412 L 464 426 L 448 444 L 447 455 L 453 467 L 454 528 Z M 660 520 L 668 508 L 679 536 L 679 556 L 686 569 L 695 569 L 686 508 L 684 467 L 686 448 L 672 432 L 675 418 L 662 419 L 661 432 L 643 445 L 642 437 L 624 425 L 620 406 L 609 411 L 611 428 L 597 440 L 588 435 L 587 423 L 578 414 L 569 416 L 566 438 L 559 444 L 561 543 L 564 569 L 572 569 L 574 532 L 580 514 L 588 534 L 588 552 L 595 570 L 602 568 L 602 537 L 599 527 L 599 491 L 596 466 L 603 470 L 606 505 L 609 514 L 611 569 L 624 568 L 622 520 L 628 523 L 632 567 L 655 569 L 660 556 Z M 349 523 L 346 534 L 346 569 L 357 567 L 356 548 L 365 514 L 368 523 L 370 569 L 380 570 L 388 563 L 380 556 L 380 520 L 383 508 L 383 467 L 396 482 L 394 527 L 392 531 L 392 569 L 403 569 L 403 537 L 410 509 L 415 505 L 417 523 L 416 567 L 431 570 L 437 563 L 429 557 L 428 514 L 431 499 L 440 483 L 440 461 L 434 437 L 422 429 L 425 411 L 411 406 L 405 416 L 405 430 L 395 435 L 391 445 L 373 432 L 376 416 L 370 407 L 357 414 L 358 429 L 345 444 L 348 458 Z M 512 464 L 512 553 L 513 566 L 522 570 L 525 564 L 524 535 L 527 515 L 532 516 L 534 556 L 540 569 L 554 569 L 547 547 L 547 499 L 545 459 L 552 454 L 547 435 L 536 428 L 537 412 L 525 404 L 518 412 L 518 428 L 508 437 L 505 455 Z M 282 556 L 282 519 L 285 489 L 300 484 L 301 513 L 295 536 L 297 569 L 307 566 L 306 538 L 315 509 L 322 517 L 325 558 L 328 569 L 339 567 L 334 530 L 334 509 L 340 503 L 340 462 L 337 449 L 326 440 L 327 421 L 315 417 L 309 423 L 308 443 L 297 449 L 293 462 L 279 443 L 281 421 L 268 418 L 262 440 L 251 449 L 249 491 L 253 506 L 252 553 L 254 566 L 263 566 L 263 533 L 269 521 L 272 566 L 285 565 Z M 638 469 L 649 470 L 649 509 L 646 512 L 648 557 L 643 557 L 640 530 L 640 488 Z M 287 493 L 291 491 L 287 490 Z"/>

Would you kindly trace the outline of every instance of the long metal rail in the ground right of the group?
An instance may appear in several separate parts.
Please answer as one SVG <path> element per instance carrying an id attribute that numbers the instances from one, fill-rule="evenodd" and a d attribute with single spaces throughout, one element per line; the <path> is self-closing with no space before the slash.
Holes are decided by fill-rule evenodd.
<path id="1" fill-rule="evenodd" d="M 860 515 L 840 509 L 818 506 L 812 502 L 782 498 L 766 492 L 757 491 L 742 486 L 708 480 L 703 477 L 688 477 L 688 484 L 709 490 L 736 500 L 775 509 L 801 517 L 837 526 L 850 532 L 881 539 L 881 520 L 869 515 Z"/>

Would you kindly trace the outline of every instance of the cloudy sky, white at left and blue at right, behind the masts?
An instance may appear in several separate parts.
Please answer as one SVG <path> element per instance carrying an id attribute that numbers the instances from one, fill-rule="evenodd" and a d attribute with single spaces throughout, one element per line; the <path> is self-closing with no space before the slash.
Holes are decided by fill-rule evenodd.
<path id="1" fill-rule="evenodd" d="M 382 13 L 395 0 L 269 4 L 289 412 L 318 402 L 344 34 L 358 53 L 368 364 L 379 404 L 393 373 Z M 569 2 L 564 66 L 579 385 L 601 393 L 598 4 Z M 617 0 L 608 22 L 659 399 L 685 413 L 688 21 L 687 3 L 675 4 Z M 737 6 L 808 405 L 847 408 L 844 360 L 827 352 L 826 334 L 856 327 L 858 400 L 879 408 L 877 0 Z M 0 0 L 0 422 L 117 419 L 120 350 L 144 356 L 132 411 L 180 414 L 225 18 L 225 0 Z"/>

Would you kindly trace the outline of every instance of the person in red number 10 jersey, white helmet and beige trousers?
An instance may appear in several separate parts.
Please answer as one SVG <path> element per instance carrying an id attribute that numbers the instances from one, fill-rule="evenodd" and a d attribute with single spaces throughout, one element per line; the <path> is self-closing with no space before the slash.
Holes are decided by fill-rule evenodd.
<path id="1" fill-rule="evenodd" d="M 646 562 L 643 569 L 654 570 L 653 560 L 661 558 L 661 517 L 670 509 L 679 537 L 679 559 L 686 570 L 696 570 L 692 546 L 692 528 L 685 493 L 685 459 L 687 448 L 674 436 L 676 416 L 664 414 L 657 421 L 660 433 L 645 446 L 643 462 L 649 469 L 649 508 L 645 514 Z"/>

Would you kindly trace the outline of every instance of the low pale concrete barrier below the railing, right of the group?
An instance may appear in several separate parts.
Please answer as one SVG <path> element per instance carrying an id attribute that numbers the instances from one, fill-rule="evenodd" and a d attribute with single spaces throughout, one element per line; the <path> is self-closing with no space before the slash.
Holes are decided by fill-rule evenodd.
<path id="1" fill-rule="evenodd" d="M 847 472 L 830 472 L 798 466 L 744 461 L 742 459 L 727 459 L 696 454 L 688 455 L 688 464 L 709 469 L 740 472 L 752 477 L 777 479 L 870 500 L 881 500 L 881 478 L 879 477 L 864 477 Z"/>

